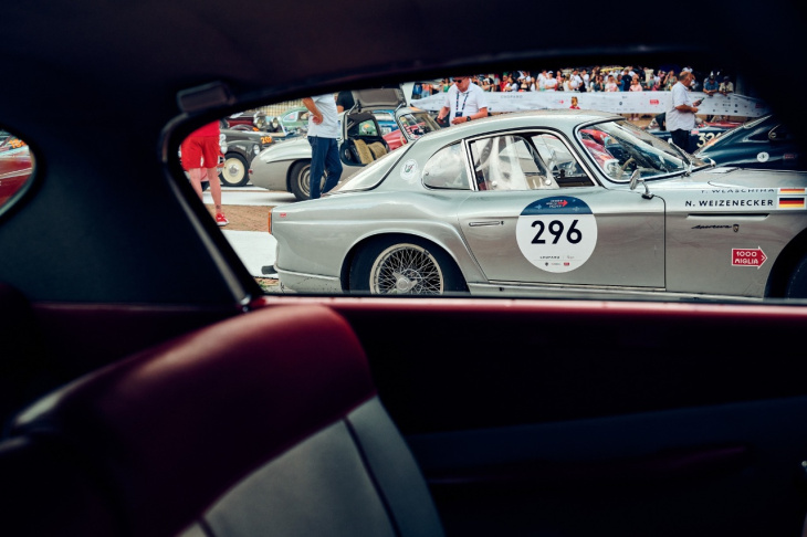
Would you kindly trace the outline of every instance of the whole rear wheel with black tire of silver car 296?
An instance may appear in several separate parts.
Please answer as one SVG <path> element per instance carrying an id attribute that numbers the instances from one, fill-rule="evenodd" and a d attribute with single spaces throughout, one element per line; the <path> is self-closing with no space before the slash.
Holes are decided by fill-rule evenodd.
<path id="1" fill-rule="evenodd" d="M 357 254 L 350 266 L 350 291 L 441 295 L 468 289 L 459 267 L 439 246 L 413 236 L 386 236 Z"/>

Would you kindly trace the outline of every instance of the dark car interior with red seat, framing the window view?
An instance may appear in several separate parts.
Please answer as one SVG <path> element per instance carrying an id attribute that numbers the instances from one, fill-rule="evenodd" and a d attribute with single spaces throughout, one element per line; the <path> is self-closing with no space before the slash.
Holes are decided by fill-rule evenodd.
<path id="1" fill-rule="evenodd" d="M 715 39 L 627 31 L 635 0 L 4 6 L 35 167 L 0 207 L 0 535 L 801 535 L 804 303 L 264 295 L 176 156 L 261 103 L 615 56 L 786 71 L 804 147 L 804 14 L 756 8 L 700 4 Z"/>

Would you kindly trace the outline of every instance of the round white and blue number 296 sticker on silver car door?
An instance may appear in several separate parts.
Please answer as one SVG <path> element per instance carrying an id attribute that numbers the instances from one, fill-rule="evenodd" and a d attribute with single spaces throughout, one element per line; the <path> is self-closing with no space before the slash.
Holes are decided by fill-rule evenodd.
<path id="1" fill-rule="evenodd" d="M 515 227 L 518 250 L 542 271 L 579 268 L 597 245 L 597 220 L 578 198 L 544 198 L 530 203 Z"/>

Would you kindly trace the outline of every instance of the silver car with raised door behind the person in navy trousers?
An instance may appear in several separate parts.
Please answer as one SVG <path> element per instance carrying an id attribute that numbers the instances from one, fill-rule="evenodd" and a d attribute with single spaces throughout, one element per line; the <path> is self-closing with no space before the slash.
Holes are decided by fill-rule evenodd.
<path id="1" fill-rule="evenodd" d="M 394 149 L 388 144 L 400 146 L 400 134 L 413 141 L 427 133 L 439 129 L 431 116 L 420 109 L 401 107 L 402 93 L 398 88 L 354 91 L 354 106 L 339 115 L 342 138 L 339 158 L 344 167 L 342 180 L 369 162 Z M 375 115 L 379 109 L 395 109 L 396 124 L 405 127 L 382 136 Z M 297 200 L 310 198 L 311 145 L 301 137 L 284 141 L 262 151 L 252 160 L 251 181 L 255 187 L 268 190 L 292 192 Z"/>

